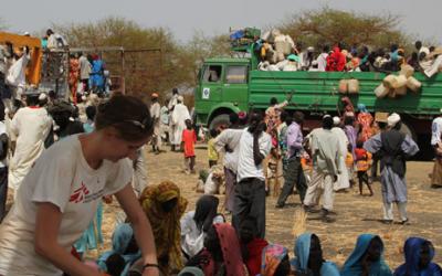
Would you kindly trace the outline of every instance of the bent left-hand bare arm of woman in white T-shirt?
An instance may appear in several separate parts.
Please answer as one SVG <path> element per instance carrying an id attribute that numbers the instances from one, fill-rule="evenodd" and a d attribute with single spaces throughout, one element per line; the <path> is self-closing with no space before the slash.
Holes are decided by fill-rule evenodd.
<path id="1" fill-rule="evenodd" d="M 53 265 L 69 275 L 102 275 L 72 256 L 57 243 L 62 213 L 49 202 L 36 203 L 34 248 Z"/>

